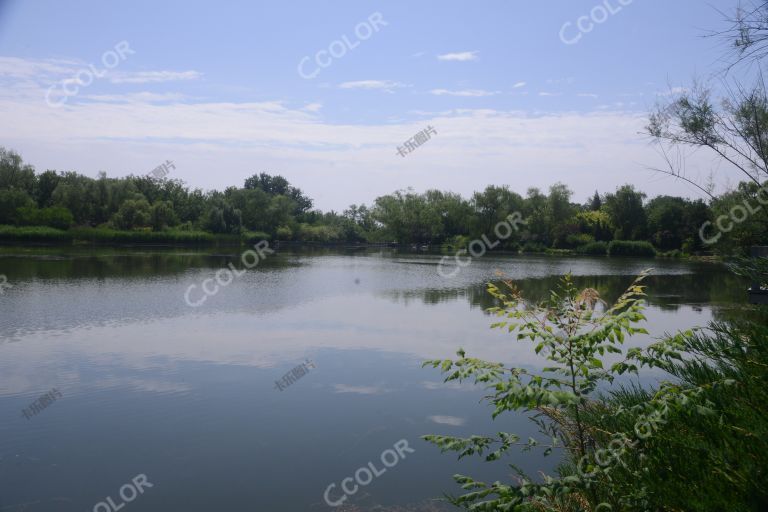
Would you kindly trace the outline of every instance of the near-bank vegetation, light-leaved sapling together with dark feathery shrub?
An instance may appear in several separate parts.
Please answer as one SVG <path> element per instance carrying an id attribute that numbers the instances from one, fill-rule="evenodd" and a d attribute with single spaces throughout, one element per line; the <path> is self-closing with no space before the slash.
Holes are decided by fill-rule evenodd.
<path id="1" fill-rule="evenodd" d="M 459 350 L 458 359 L 425 365 L 446 382 L 487 386 L 494 418 L 526 414 L 540 435 L 425 439 L 459 458 L 497 463 L 520 449 L 562 462 L 555 475 L 513 464 L 508 482 L 454 475 L 463 493 L 450 496 L 452 504 L 530 512 L 768 508 L 768 312 L 627 349 L 625 337 L 646 334 L 643 278 L 613 304 L 570 276 L 539 304 L 510 281 L 489 285 L 492 327 L 530 344 L 542 364 L 483 361 Z M 644 372 L 653 372 L 654 385 L 643 385 Z"/>

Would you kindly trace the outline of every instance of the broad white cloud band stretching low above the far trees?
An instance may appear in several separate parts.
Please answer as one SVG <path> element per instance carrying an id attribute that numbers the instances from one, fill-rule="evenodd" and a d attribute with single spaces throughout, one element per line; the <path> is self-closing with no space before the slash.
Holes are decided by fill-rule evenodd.
<path id="1" fill-rule="evenodd" d="M 693 195 L 674 181 L 648 182 L 644 169 L 660 165 L 659 156 L 638 136 L 645 113 L 631 105 L 536 115 L 490 108 L 395 111 L 387 115 L 394 121 L 362 124 L 326 121 L 319 104 L 209 101 L 177 91 L 124 94 L 105 80 L 108 89 L 98 95 L 89 97 L 84 89 L 51 108 L 44 77 L 60 74 L 60 66 L 68 64 L 0 60 L 0 140 L 38 169 L 124 176 L 171 159 L 178 178 L 190 186 L 222 189 L 241 184 L 256 165 L 283 174 L 325 210 L 370 204 L 399 188 L 434 188 L 436 181 L 465 196 L 486 184 L 508 183 L 524 191 L 557 181 L 567 182 L 576 197 L 591 195 L 595 183 L 608 191 L 626 182 L 650 195 Z M 432 94 L 495 93 L 436 89 Z M 412 160 L 398 157 L 404 137 L 427 125 L 439 133 L 430 151 Z M 616 162 L 624 165 L 617 169 Z M 706 154 L 692 157 L 689 165 L 702 172 L 713 168 Z M 348 186 L 333 186 L 340 182 Z"/>

